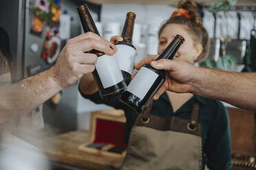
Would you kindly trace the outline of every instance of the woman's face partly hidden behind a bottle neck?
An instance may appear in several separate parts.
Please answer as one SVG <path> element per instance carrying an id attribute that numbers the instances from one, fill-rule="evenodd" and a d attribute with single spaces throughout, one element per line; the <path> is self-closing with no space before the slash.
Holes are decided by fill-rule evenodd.
<path id="1" fill-rule="evenodd" d="M 173 60 L 183 60 L 193 64 L 202 52 L 202 45 L 195 44 L 192 36 L 186 31 L 186 26 L 184 25 L 171 23 L 164 27 L 159 38 L 158 55 L 164 51 L 177 34 L 183 36 L 185 41 L 180 46 Z"/>

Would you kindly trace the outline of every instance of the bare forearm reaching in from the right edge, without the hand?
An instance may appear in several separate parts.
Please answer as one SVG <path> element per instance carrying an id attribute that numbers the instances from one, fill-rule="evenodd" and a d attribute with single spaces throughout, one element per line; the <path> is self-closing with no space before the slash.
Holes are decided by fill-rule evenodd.
<path id="1" fill-rule="evenodd" d="M 256 111 L 256 73 L 234 73 L 199 68 L 191 93 Z"/>

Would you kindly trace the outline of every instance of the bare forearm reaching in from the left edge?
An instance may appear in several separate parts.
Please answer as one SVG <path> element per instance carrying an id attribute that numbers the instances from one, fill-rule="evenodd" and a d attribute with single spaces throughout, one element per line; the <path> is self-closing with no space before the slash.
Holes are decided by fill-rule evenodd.
<path id="1" fill-rule="evenodd" d="M 19 115 L 28 114 L 61 90 L 61 84 L 48 69 L 10 86 L 1 86 L 0 119 L 8 121 Z"/>

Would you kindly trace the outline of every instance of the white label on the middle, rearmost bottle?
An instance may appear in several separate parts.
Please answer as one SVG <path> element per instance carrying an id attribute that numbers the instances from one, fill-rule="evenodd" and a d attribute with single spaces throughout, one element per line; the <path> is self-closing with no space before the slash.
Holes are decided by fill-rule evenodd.
<path id="1" fill-rule="evenodd" d="M 136 50 L 128 45 L 116 45 L 116 47 L 118 48 L 118 51 L 115 53 L 115 56 L 120 69 L 132 75 Z"/>

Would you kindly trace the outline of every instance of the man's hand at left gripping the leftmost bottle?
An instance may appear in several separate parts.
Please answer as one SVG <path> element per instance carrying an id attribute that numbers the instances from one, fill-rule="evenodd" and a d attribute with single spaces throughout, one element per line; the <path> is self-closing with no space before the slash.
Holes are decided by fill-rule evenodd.
<path id="1" fill-rule="evenodd" d="M 51 71 L 61 88 L 71 86 L 84 74 L 94 71 L 97 56 L 86 53 L 92 49 L 107 55 L 113 55 L 117 50 L 111 42 L 92 32 L 68 40 Z"/>

